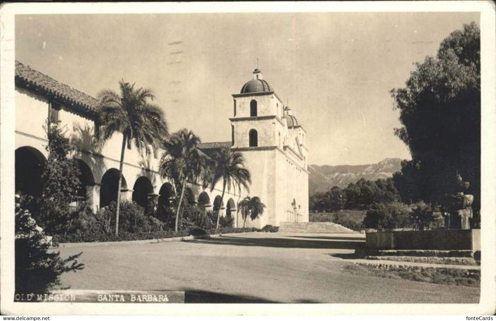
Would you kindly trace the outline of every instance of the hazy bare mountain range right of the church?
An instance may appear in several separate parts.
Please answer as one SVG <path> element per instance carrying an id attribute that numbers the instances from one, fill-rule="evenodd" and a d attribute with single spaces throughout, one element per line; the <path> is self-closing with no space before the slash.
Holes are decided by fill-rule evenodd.
<path id="1" fill-rule="evenodd" d="M 401 159 L 386 158 L 369 165 L 309 165 L 309 192 L 325 192 L 333 186 L 345 188 L 361 178 L 375 181 L 386 179 L 401 170 Z"/>

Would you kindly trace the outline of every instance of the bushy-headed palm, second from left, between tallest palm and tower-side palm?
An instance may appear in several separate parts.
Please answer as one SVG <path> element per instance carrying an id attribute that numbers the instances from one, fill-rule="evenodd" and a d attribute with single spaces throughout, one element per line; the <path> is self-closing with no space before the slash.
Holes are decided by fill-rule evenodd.
<path id="1" fill-rule="evenodd" d="M 164 141 L 165 152 L 160 160 L 159 173 L 163 178 L 174 181 L 176 186 L 181 186 L 181 196 L 176 209 L 176 233 L 186 183 L 195 184 L 204 176 L 207 158 L 197 148 L 200 142 L 200 138 L 186 128 L 173 133 Z"/>

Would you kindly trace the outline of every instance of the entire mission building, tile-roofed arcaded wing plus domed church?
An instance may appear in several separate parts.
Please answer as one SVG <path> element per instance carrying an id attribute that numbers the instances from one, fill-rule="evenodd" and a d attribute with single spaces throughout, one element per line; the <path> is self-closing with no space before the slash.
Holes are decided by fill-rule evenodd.
<path id="1" fill-rule="evenodd" d="M 205 210 L 234 216 L 237 227 L 243 219 L 237 204 L 245 196 L 258 196 L 266 205 L 263 215 L 247 226 L 261 228 L 281 222 L 308 222 L 308 171 L 306 131 L 284 106 L 262 72 L 233 94 L 234 115 L 230 118 L 232 139 L 228 142 L 201 143 L 207 150 L 230 147 L 243 153 L 251 174 L 250 190 L 234 194 L 226 191 L 221 204 L 222 184 L 213 191 L 189 184 L 189 203 Z M 15 63 L 15 191 L 40 195 L 41 172 L 47 160 L 48 123 L 66 131 L 75 147 L 82 188 L 75 197 L 88 202 L 94 212 L 117 197 L 122 134 L 116 133 L 105 144 L 94 138 L 99 102 L 20 62 Z M 227 115 L 226 115 L 227 116 Z M 194 131 L 194 128 L 191 128 Z M 121 197 L 147 208 L 150 204 L 170 206 L 176 197 L 174 184 L 158 174 L 160 149 L 141 154 L 127 146 Z"/>

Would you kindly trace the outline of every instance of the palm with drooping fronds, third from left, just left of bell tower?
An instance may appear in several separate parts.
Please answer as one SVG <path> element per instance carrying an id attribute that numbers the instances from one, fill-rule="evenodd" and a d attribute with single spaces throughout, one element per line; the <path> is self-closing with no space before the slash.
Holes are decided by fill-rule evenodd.
<path id="1" fill-rule="evenodd" d="M 228 192 L 231 187 L 238 187 L 238 191 L 241 193 L 241 187 L 244 187 L 249 191 L 249 184 L 251 184 L 250 173 L 248 169 L 245 168 L 245 160 L 243 154 L 236 150 L 231 150 L 229 147 L 222 147 L 211 153 L 210 158 L 213 161 L 214 169 L 212 170 L 212 176 L 209 180 L 210 191 L 213 191 L 215 185 L 222 181 L 222 195 L 221 195 L 221 206 L 224 203 L 224 193 L 226 192 L 226 187 Z M 215 225 L 215 230 L 219 228 L 220 215 L 217 215 L 217 224 Z"/>

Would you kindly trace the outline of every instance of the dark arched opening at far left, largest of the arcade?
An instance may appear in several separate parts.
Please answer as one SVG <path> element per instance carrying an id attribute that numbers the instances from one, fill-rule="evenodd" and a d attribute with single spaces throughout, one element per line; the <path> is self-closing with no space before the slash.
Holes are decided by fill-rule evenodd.
<path id="1" fill-rule="evenodd" d="M 15 192 L 40 196 L 43 189 L 41 174 L 47 159 L 36 148 L 19 147 L 15 150 Z"/>

